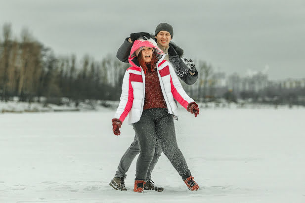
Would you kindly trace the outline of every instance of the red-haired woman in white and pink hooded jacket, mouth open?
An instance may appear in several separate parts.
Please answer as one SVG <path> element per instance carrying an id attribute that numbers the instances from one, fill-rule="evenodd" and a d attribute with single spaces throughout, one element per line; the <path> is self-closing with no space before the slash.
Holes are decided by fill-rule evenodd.
<path id="1" fill-rule="evenodd" d="M 128 68 L 122 85 L 119 107 L 112 119 L 113 132 L 119 128 L 128 114 L 129 124 L 137 136 L 140 155 L 136 163 L 135 192 L 143 192 L 145 178 L 154 156 L 156 139 L 161 141 L 164 154 L 186 183 L 189 190 L 199 189 L 185 159 L 179 150 L 174 131 L 173 116 L 177 116 L 177 100 L 195 117 L 198 105 L 183 90 L 173 67 L 164 60 L 165 54 L 153 40 L 134 41 Z"/>

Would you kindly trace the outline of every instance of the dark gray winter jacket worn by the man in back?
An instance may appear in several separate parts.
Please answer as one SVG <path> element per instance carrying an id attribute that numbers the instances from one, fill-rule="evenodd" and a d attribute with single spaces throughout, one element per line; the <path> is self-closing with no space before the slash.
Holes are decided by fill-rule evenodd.
<path id="1" fill-rule="evenodd" d="M 129 38 L 126 38 L 124 40 L 123 44 L 120 46 L 117 52 L 117 58 L 124 63 L 129 63 L 128 57 L 130 55 L 131 47 L 133 45 L 133 43 L 129 42 L 128 39 Z M 170 45 L 169 48 L 170 63 L 173 65 L 177 76 L 179 76 L 180 79 L 184 81 L 186 84 L 194 84 L 198 79 L 197 70 L 193 76 L 190 75 L 188 71 L 188 67 L 181 59 L 181 57 L 183 56 L 183 49 L 177 46 L 176 44 L 174 44 L 173 42 L 170 42 L 169 45 Z M 179 74 L 179 73 L 186 73 L 186 74 Z"/>

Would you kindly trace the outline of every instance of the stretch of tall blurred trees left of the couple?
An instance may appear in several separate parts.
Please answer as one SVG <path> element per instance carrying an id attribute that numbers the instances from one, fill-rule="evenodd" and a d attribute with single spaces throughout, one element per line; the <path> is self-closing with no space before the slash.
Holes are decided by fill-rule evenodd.
<path id="1" fill-rule="evenodd" d="M 129 67 L 108 55 L 95 61 L 85 55 L 55 56 L 51 48 L 35 40 L 27 29 L 20 39 L 12 38 L 11 25 L 2 27 L 0 38 L 0 99 L 32 102 L 45 97 L 49 102 L 66 97 L 118 100 L 124 72 Z"/>

